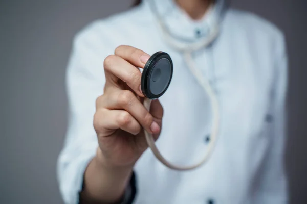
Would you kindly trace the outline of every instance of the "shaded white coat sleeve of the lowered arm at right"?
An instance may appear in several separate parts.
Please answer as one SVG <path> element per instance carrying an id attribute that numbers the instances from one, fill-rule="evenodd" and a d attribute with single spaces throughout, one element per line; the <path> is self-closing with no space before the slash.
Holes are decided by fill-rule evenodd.
<path id="1" fill-rule="evenodd" d="M 287 134 L 286 93 L 288 61 L 285 40 L 279 34 L 275 48 L 274 82 L 270 110 L 266 121 L 266 134 L 270 140 L 268 155 L 259 176 L 257 204 L 288 203 L 288 185 L 284 166 L 284 147 Z"/>

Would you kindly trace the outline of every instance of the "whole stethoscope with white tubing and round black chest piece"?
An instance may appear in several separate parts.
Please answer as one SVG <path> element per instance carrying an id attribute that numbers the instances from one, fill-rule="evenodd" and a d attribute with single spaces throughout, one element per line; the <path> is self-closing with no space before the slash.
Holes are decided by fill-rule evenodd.
<path id="1" fill-rule="evenodd" d="M 165 39 L 165 41 L 174 49 L 177 49 L 178 51 L 182 52 L 185 58 L 185 61 L 187 63 L 187 66 L 189 67 L 191 73 L 194 75 L 196 80 L 200 83 L 200 85 L 204 88 L 206 93 L 209 96 L 210 104 L 212 107 L 212 129 L 211 129 L 211 138 L 210 143 L 208 144 L 207 150 L 205 152 L 204 158 L 190 166 L 177 166 L 169 161 L 167 161 L 160 153 L 159 149 L 157 148 L 155 144 L 155 140 L 153 139 L 152 135 L 149 134 L 145 129 L 145 137 L 147 144 L 149 148 L 152 150 L 153 154 L 156 156 L 156 158 L 163 163 L 168 168 L 174 169 L 174 170 L 191 170 L 194 168 L 197 168 L 204 164 L 206 161 L 208 161 L 218 134 L 218 126 L 220 124 L 220 109 L 218 107 L 218 100 L 217 97 L 211 88 L 209 82 L 207 79 L 202 77 L 202 73 L 199 69 L 195 68 L 191 53 L 193 51 L 199 50 L 201 48 L 207 47 L 210 43 L 212 43 L 218 34 L 218 24 L 214 26 L 209 34 L 208 37 L 201 40 L 200 42 L 196 43 L 181 43 L 180 41 L 177 41 L 174 39 L 174 37 L 168 32 L 166 25 L 163 23 L 163 19 L 158 13 L 158 10 L 156 8 L 155 2 L 152 0 L 148 1 L 150 4 L 150 8 L 152 10 L 152 13 L 156 15 L 156 19 L 158 21 L 159 28 L 161 30 L 161 33 Z M 160 96 L 162 96 L 165 91 L 167 90 L 173 73 L 173 63 L 170 58 L 170 56 L 167 53 L 164 52 L 157 52 L 153 54 L 147 63 L 144 66 L 142 77 L 141 77 L 141 89 L 145 96 L 144 99 L 144 106 L 149 111 L 150 109 L 150 103 L 152 99 L 157 99 Z"/>

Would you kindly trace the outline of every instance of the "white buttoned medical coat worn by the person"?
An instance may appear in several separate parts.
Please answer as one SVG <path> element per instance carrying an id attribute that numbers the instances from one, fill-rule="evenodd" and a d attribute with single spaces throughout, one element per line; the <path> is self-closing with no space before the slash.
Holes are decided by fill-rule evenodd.
<path id="1" fill-rule="evenodd" d="M 216 9 L 195 22 L 171 0 L 154 1 L 169 30 L 182 41 L 205 38 L 212 16 L 219 17 L 217 39 L 192 57 L 217 94 L 221 124 L 211 158 L 196 170 L 170 170 L 146 150 L 135 166 L 138 192 L 134 203 L 203 204 L 209 199 L 215 204 L 287 203 L 283 168 L 287 56 L 282 33 L 251 13 Z M 224 2 L 217 1 L 217 5 Z M 200 36 L 195 35 L 198 29 Z M 95 99 L 103 94 L 103 60 L 121 44 L 149 54 L 162 50 L 172 57 L 172 82 L 160 98 L 164 118 L 157 146 L 163 156 L 188 165 L 206 151 L 212 119 L 208 97 L 183 54 L 161 37 L 145 2 L 91 23 L 74 40 L 67 69 L 69 127 L 58 159 L 65 203 L 77 203 L 84 169 L 95 156 L 93 115 Z"/>

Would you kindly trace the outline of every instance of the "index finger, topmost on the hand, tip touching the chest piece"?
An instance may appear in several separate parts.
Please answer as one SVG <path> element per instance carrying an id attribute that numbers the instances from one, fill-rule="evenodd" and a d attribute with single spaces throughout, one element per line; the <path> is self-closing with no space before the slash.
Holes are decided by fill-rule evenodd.
<path id="1" fill-rule="evenodd" d="M 115 55 L 128 61 L 136 67 L 144 68 L 150 55 L 144 51 L 128 45 L 120 45 L 115 49 Z"/>

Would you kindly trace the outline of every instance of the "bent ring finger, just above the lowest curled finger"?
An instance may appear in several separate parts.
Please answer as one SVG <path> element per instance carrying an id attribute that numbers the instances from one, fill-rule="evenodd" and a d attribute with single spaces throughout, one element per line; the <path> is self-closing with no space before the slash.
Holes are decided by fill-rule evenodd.
<path id="1" fill-rule="evenodd" d="M 156 126 L 152 126 L 156 125 L 152 124 L 153 116 L 131 91 L 115 88 L 108 89 L 107 93 L 97 99 L 96 107 L 104 107 L 110 110 L 123 109 L 129 112 L 149 133 L 159 131 Z M 151 127 L 155 128 L 152 130 Z"/>

